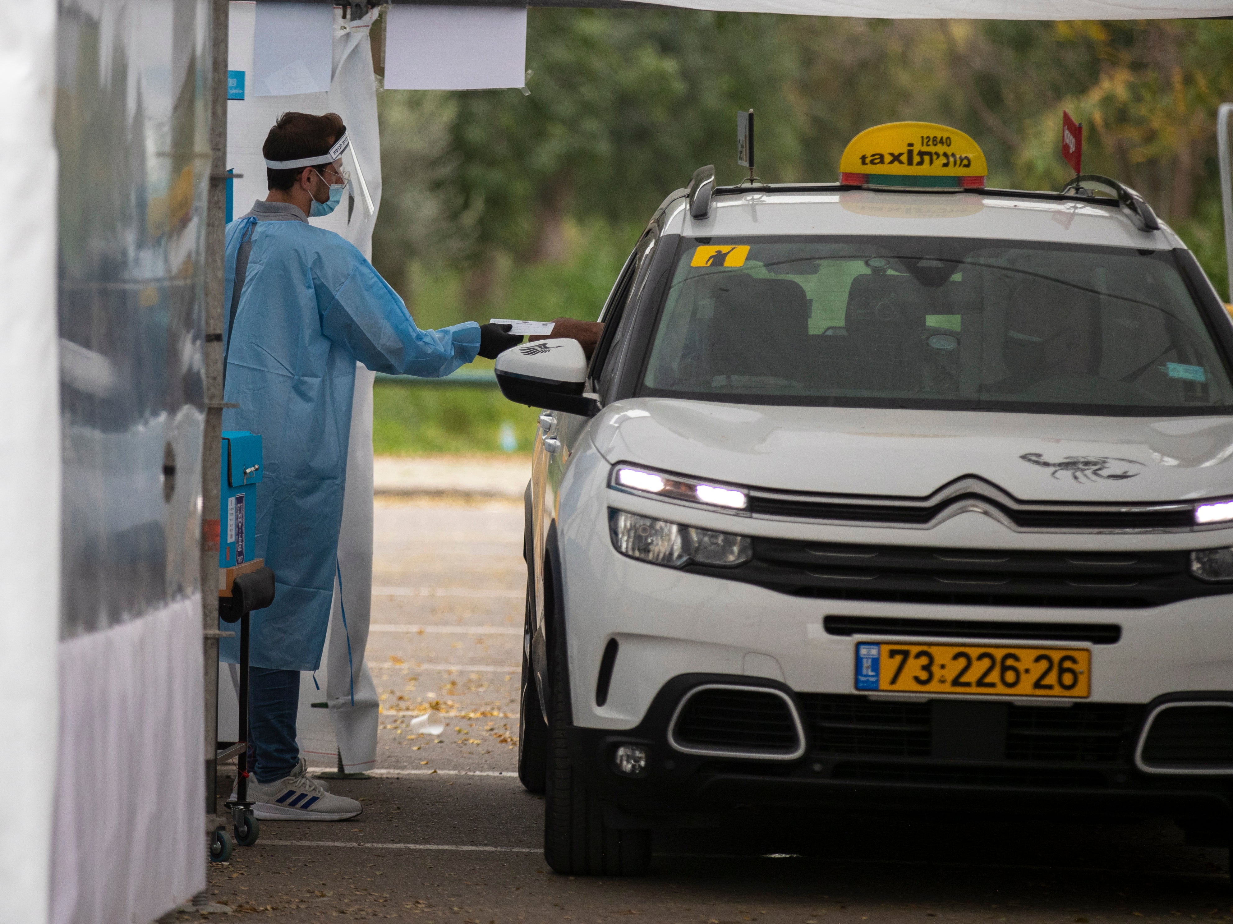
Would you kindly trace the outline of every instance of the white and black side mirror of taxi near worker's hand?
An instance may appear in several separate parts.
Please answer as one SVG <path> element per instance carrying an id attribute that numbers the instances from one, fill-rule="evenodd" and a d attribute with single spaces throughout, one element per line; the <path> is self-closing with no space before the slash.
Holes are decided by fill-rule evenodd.
<path id="1" fill-rule="evenodd" d="M 586 381 L 587 354 L 575 339 L 536 340 L 497 357 L 501 394 L 518 405 L 594 417 L 599 402 L 583 397 Z"/>

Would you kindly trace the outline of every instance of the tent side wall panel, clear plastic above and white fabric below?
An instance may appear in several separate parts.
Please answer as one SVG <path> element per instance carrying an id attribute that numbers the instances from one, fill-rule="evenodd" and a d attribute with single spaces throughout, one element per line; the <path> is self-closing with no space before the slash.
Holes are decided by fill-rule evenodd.
<path id="1" fill-rule="evenodd" d="M 58 222 L 59 241 L 51 888 L 65 924 L 149 920 L 205 886 L 208 22 L 208 0 L 60 0 L 58 10 L 59 207 L 43 221 Z"/>

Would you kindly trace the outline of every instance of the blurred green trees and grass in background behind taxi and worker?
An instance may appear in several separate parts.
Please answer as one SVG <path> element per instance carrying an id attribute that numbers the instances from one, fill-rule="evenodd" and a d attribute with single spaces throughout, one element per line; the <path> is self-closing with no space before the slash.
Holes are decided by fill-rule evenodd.
<path id="1" fill-rule="evenodd" d="M 1069 179 L 1067 109 L 1085 171 L 1143 192 L 1227 295 L 1215 118 L 1233 100 L 1233 22 L 535 7 L 526 54 L 530 96 L 379 97 L 374 259 L 423 327 L 596 317 L 668 192 L 708 163 L 721 184 L 742 178 L 735 116 L 750 107 L 767 181 L 836 179 L 852 136 L 911 118 L 969 133 L 990 185 L 1018 189 Z M 496 391 L 388 392 L 379 447 L 488 452 L 502 407 L 525 411 Z"/>

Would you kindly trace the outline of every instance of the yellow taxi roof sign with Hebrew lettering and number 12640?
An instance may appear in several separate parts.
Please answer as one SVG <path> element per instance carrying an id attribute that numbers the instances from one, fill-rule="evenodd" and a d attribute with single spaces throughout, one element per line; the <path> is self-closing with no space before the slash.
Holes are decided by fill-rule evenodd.
<path id="1" fill-rule="evenodd" d="M 988 175 L 979 144 L 933 122 L 866 128 L 840 158 L 840 183 L 851 186 L 979 189 Z"/>

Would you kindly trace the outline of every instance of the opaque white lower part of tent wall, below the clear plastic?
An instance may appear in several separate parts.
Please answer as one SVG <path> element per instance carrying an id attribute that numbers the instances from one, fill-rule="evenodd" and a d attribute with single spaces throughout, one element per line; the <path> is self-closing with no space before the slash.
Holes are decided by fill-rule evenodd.
<path id="1" fill-rule="evenodd" d="M 51 920 L 153 920 L 206 886 L 201 595 L 69 639 L 59 659 Z"/>

